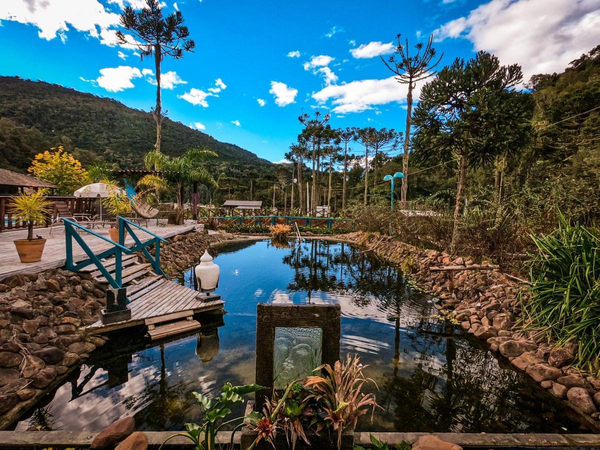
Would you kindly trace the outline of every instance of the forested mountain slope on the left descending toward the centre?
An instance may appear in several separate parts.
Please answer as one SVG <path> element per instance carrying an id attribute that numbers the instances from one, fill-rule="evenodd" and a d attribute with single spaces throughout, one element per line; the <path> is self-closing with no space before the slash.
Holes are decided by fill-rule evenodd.
<path id="1" fill-rule="evenodd" d="M 59 85 L 0 76 L 0 167 L 24 172 L 37 152 L 64 145 L 84 164 L 104 160 L 121 169 L 143 169 L 155 139 L 148 112 Z M 271 166 L 235 144 L 164 118 L 161 151 L 181 155 L 196 146 L 218 153 L 209 167 Z"/>

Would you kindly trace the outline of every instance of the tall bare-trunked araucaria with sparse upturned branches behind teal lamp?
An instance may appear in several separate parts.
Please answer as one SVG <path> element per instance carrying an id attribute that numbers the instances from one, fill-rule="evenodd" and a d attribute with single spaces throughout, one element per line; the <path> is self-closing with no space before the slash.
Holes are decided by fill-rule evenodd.
<path id="1" fill-rule="evenodd" d="M 395 50 L 395 55 L 389 57 L 388 61 L 380 56 L 383 63 L 388 67 L 389 70 L 394 72 L 397 77 L 398 83 L 406 84 L 408 87 L 408 93 L 406 95 L 406 130 L 404 131 L 404 155 L 402 160 L 402 172 L 404 178 L 402 179 L 402 188 L 400 194 L 400 200 L 406 202 L 406 193 L 409 189 L 409 144 L 410 144 L 410 121 L 413 107 L 412 91 L 415 88 L 415 84 L 418 81 L 425 80 L 435 74 L 433 70 L 436 65 L 442 60 L 442 55 L 436 58 L 436 49 L 431 47 L 433 43 L 433 34 L 430 35 L 427 40 L 427 45 L 418 43 L 415 46 L 416 53 L 411 54 L 409 51 L 409 41 L 406 40 L 406 45 L 400 42 L 400 34 L 396 36 L 398 46 Z"/>

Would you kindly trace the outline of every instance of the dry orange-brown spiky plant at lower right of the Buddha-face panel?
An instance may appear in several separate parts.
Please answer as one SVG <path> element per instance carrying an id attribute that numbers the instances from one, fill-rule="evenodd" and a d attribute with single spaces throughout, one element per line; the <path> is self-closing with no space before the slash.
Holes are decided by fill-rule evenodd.
<path id="1" fill-rule="evenodd" d="M 361 364 L 359 356 L 347 355 L 346 361 L 337 361 L 334 367 L 329 364 L 320 365 L 315 371 L 325 370 L 327 375 L 308 376 L 304 380 L 304 386 L 313 391 L 317 401 L 322 405 L 326 413 L 323 421 L 325 425 L 331 426 L 337 431 L 338 448 L 341 446 L 342 431 L 348 427 L 356 428 L 358 418 L 367 413 L 369 407 L 374 412 L 377 402 L 372 393 L 364 394 L 362 386 L 371 382 L 365 378 L 362 370 L 368 366 Z M 317 426 L 317 431 L 323 428 L 323 424 Z"/>

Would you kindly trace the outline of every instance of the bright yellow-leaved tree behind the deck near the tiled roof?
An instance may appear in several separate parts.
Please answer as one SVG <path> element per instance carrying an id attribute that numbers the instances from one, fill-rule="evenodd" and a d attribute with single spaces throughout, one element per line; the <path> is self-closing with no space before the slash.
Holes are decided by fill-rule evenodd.
<path id="1" fill-rule="evenodd" d="M 79 160 L 65 152 L 62 145 L 35 155 L 28 172 L 56 186 L 58 195 L 71 196 L 88 180 L 88 172 Z"/>

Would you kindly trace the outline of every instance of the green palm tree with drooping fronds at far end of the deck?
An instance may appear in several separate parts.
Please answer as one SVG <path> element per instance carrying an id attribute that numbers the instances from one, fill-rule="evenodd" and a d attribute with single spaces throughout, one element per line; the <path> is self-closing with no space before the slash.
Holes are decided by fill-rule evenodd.
<path id="1" fill-rule="evenodd" d="M 178 224 L 181 225 L 184 221 L 184 184 L 198 182 L 212 187 L 218 186 L 212 175 L 202 165 L 202 160 L 206 157 L 217 156 L 215 152 L 206 148 L 193 148 L 175 158 L 170 158 L 157 150 L 146 154 L 144 158 L 146 167 L 148 169 L 155 167 L 160 172 L 161 178 L 176 185 Z"/>

